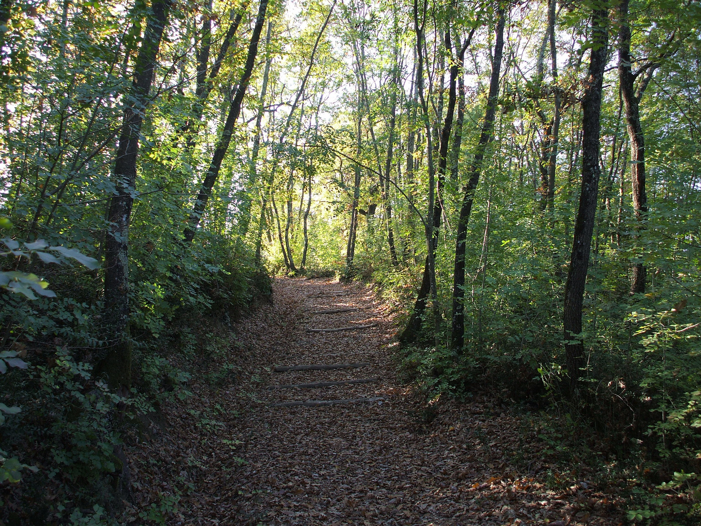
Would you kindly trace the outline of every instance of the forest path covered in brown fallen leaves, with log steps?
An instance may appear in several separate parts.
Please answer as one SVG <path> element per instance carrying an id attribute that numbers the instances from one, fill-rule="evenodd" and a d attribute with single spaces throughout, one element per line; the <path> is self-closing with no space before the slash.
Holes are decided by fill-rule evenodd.
<path id="1" fill-rule="evenodd" d="M 549 460 L 528 412 L 477 396 L 427 405 L 400 383 L 393 315 L 372 288 L 286 278 L 273 290 L 273 304 L 234 327 L 225 363 L 193 375 L 192 396 L 126 440 L 135 488 L 127 522 L 622 524 L 622 501 L 588 480 L 585 466 Z M 360 310 L 315 313 L 335 309 Z M 308 332 L 351 325 L 373 326 Z M 274 370 L 340 363 L 367 365 Z"/>

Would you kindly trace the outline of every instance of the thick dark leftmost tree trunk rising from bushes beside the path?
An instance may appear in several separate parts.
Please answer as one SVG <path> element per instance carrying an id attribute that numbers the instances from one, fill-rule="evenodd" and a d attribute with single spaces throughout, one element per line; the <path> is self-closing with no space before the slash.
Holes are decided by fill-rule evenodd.
<path id="1" fill-rule="evenodd" d="M 131 386 L 132 344 L 129 335 L 129 223 L 136 187 L 139 134 L 154 79 L 158 48 L 168 24 L 170 0 L 154 0 L 144 40 L 134 66 L 134 82 L 125 108 L 114 166 L 116 195 L 110 199 L 105 250 L 104 312 L 109 323 L 111 346 L 97 366 L 107 375 L 109 386 L 128 396 Z"/>

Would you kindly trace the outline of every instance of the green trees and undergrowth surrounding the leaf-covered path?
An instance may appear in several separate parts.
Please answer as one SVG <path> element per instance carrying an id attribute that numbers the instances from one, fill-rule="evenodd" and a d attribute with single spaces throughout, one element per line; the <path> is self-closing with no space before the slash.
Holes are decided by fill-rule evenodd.
<path id="1" fill-rule="evenodd" d="M 109 521 L 123 426 L 188 396 L 269 276 L 334 274 L 404 313 L 427 396 L 567 414 L 653 484 L 632 520 L 698 518 L 697 1 L 0 18 L 1 520 Z"/>

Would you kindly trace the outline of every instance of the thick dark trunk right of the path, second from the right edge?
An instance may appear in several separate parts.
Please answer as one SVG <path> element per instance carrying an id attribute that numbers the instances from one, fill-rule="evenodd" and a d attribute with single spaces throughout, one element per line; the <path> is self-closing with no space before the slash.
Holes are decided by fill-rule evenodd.
<path id="1" fill-rule="evenodd" d="M 572 255 L 565 283 L 563 328 L 565 358 L 571 394 L 576 396 L 580 370 L 584 367 L 582 341 L 582 304 L 587 281 L 594 218 L 599 192 L 599 131 L 601 128 L 601 86 L 606 67 L 608 17 L 605 9 L 592 13 L 592 47 L 587 88 L 582 99 L 582 189 L 574 225 Z"/>

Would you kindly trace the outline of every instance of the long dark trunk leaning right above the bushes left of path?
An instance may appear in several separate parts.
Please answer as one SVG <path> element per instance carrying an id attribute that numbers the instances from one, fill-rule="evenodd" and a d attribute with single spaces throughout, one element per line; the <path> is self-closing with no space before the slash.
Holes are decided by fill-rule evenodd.
<path id="1" fill-rule="evenodd" d="M 212 194 L 212 188 L 214 187 L 215 182 L 217 182 L 217 177 L 219 177 L 219 169 L 222 168 L 222 161 L 224 161 L 226 151 L 229 149 L 231 135 L 233 133 L 233 126 L 236 124 L 238 116 L 241 112 L 243 97 L 248 88 L 248 83 L 251 79 L 251 74 L 256 61 L 256 55 L 258 54 L 258 43 L 260 41 L 261 31 L 263 30 L 267 8 L 268 0 L 261 0 L 258 9 L 258 16 L 256 18 L 256 25 L 253 28 L 251 42 L 248 46 L 248 55 L 243 68 L 243 75 L 238 81 L 236 95 L 234 95 L 233 100 L 231 101 L 231 105 L 229 106 L 229 116 L 226 117 L 226 123 L 224 123 L 222 137 L 219 137 L 217 148 L 212 156 L 210 168 L 207 170 L 207 175 L 205 176 L 205 180 L 197 196 L 197 201 L 195 201 L 195 205 L 190 213 L 187 227 L 184 231 L 184 239 L 186 243 L 191 243 L 195 237 L 197 227 L 200 224 L 205 207 L 207 206 L 207 201 L 209 201 L 210 195 Z"/>

